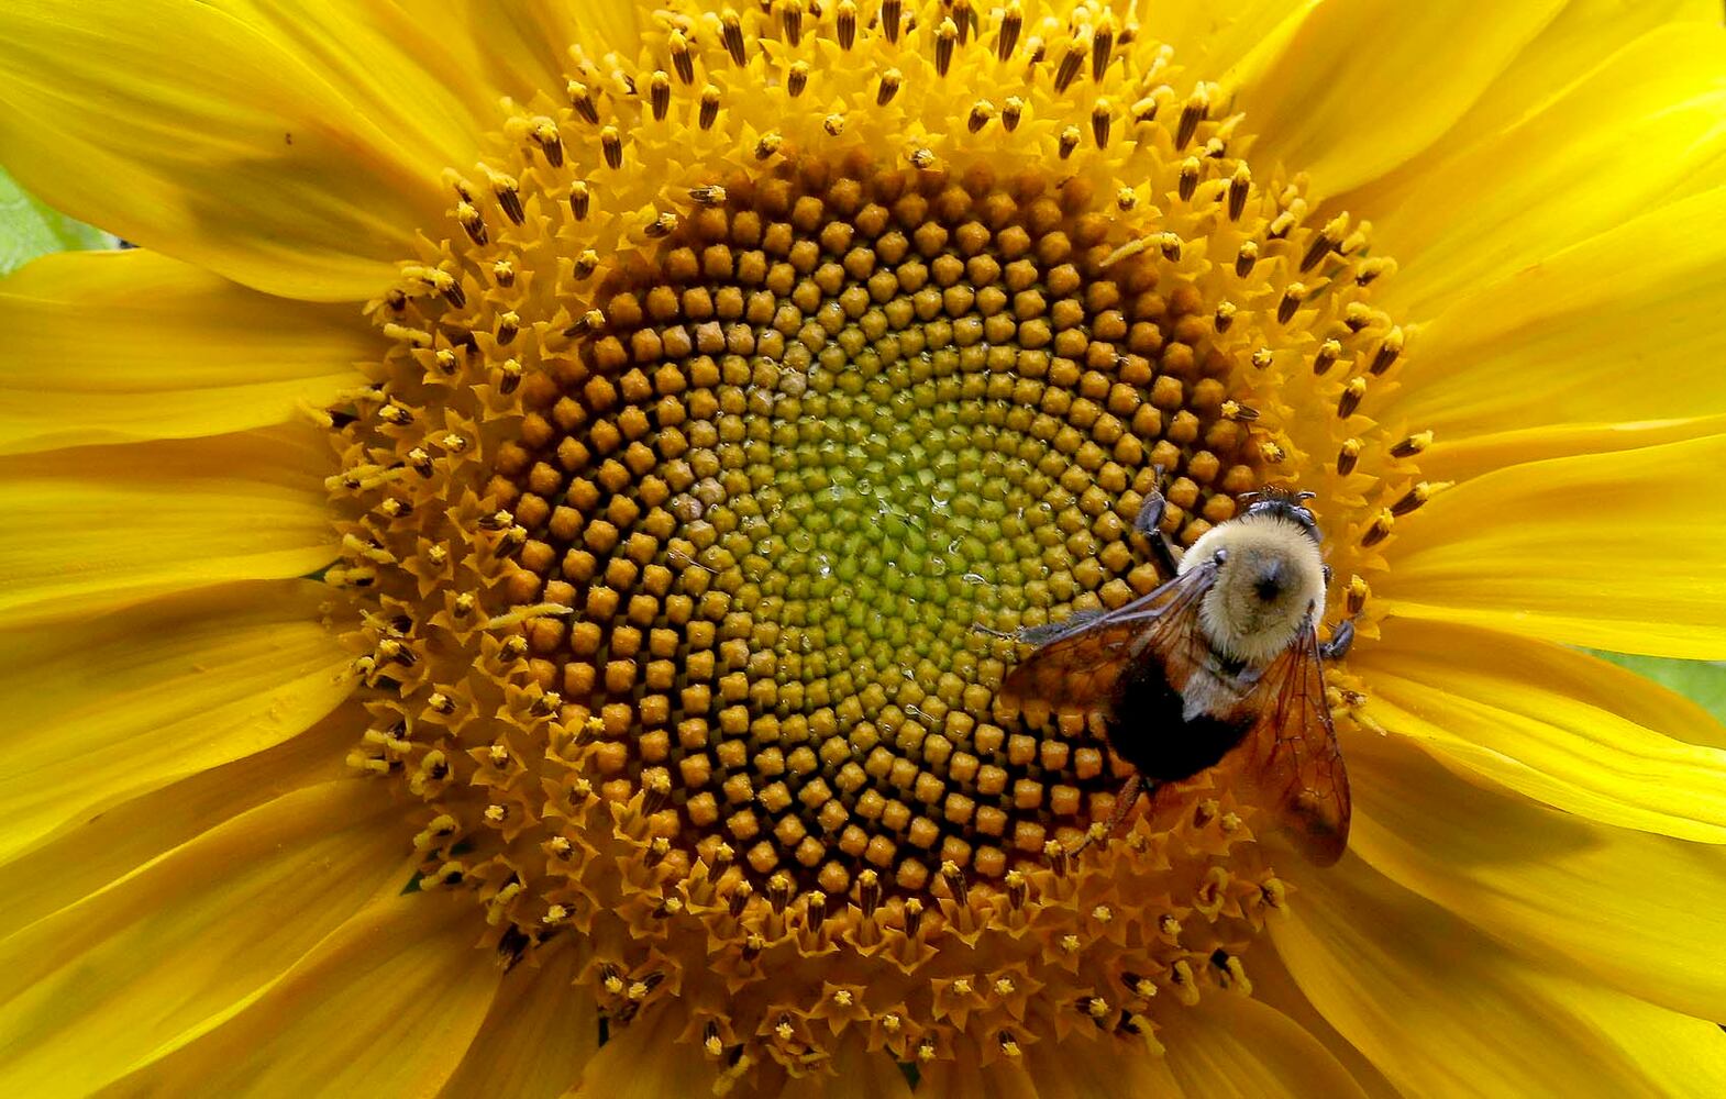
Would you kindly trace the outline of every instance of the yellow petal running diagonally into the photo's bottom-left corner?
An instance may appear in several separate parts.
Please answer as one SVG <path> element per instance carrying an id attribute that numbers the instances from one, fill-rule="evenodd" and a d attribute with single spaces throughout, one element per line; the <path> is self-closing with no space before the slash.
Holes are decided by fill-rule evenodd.
<path id="1" fill-rule="evenodd" d="M 86 1094 L 242 1008 L 399 889 L 400 816 L 357 778 L 297 790 L 0 942 L 0 1094 Z"/>

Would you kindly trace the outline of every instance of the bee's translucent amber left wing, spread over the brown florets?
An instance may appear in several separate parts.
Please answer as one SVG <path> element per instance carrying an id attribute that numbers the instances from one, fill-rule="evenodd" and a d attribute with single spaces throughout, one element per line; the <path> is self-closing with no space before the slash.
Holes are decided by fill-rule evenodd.
<path id="1" fill-rule="evenodd" d="M 1146 654 L 1155 654 L 1179 690 L 1203 659 L 1198 607 L 1215 580 L 1217 566 L 1205 562 L 1122 607 L 1087 614 L 1053 635 L 1039 631 L 1025 638 L 1043 647 L 1008 673 L 1001 694 L 1020 704 L 1113 706 L 1124 673 Z"/>

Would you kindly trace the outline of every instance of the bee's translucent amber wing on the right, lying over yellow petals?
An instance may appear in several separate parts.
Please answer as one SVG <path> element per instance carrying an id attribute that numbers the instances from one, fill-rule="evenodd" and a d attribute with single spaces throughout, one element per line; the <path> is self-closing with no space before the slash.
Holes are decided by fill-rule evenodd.
<path id="1" fill-rule="evenodd" d="M 1270 663 L 1257 690 L 1265 706 L 1246 735 L 1243 773 L 1294 847 L 1331 866 L 1348 847 L 1348 771 L 1324 700 L 1313 626 Z"/>

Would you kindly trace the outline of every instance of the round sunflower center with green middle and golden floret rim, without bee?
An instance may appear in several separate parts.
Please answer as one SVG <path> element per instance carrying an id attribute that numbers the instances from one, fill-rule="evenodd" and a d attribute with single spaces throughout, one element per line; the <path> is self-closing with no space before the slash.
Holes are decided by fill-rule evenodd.
<path id="1" fill-rule="evenodd" d="M 1358 418 L 1402 350 L 1384 261 L 1255 179 L 1212 86 L 1106 12 L 927 9 L 576 50 L 450 173 L 452 242 L 333 412 L 352 759 L 425 799 L 416 883 L 511 959 L 582 951 L 613 1020 L 678 999 L 732 1070 L 847 1027 L 987 1063 L 1243 983 L 1282 899 L 1253 807 L 1201 775 L 1070 857 L 1129 769 L 1094 714 L 998 704 L 1024 650 L 977 626 L 1167 580 L 1131 530 L 1160 478 L 1189 545 L 1424 445 Z M 1389 530 L 1360 507 L 1339 569 Z"/>

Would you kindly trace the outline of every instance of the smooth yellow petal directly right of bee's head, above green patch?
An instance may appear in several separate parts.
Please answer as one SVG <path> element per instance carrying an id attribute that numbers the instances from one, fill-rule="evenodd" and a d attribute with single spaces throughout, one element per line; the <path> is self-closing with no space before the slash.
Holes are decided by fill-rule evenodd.
<path id="1" fill-rule="evenodd" d="M 1726 436 L 1510 466 L 1400 523 L 1384 606 L 1572 645 L 1726 657 Z"/>

